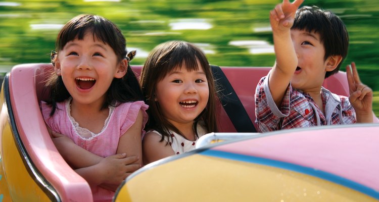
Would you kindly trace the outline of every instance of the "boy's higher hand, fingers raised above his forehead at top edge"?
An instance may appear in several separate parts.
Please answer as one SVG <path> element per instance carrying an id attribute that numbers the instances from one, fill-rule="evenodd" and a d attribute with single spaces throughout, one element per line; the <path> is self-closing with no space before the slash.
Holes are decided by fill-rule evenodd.
<path id="1" fill-rule="evenodd" d="M 294 24 L 295 13 L 304 0 L 295 0 L 290 3 L 290 0 L 283 0 L 281 4 L 275 6 L 270 11 L 270 24 L 272 31 L 285 31 L 290 29 Z"/>

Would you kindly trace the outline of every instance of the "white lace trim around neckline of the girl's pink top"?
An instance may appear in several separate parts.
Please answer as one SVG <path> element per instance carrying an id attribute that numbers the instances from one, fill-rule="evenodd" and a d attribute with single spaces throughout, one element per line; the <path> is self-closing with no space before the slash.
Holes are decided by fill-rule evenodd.
<path id="1" fill-rule="evenodd" d="M 111 115 L 115 109 L 113 106 L 108 106 L 109 114 L 108 114 L 107 119 L 104 122 L 104 126 L 98 134 L 95 134 L 86 128 L 80 127 L 79 123 L 76 122 L 75 119 L 71 116 L 71 100 L 72 100 L 72 97 L 70 97 L 66 102 L 66 112 L 68 114 L 68 117 L 71 120 L 72 125 L 74 126 L 76 135 L 78 135 L 80 138 L 82 138 L 84 140 L 91 140 L 91 139 L 97 137 L 98 135 L 100 135 L 107 128 L 109 119 L 111 118 Z M 84 134 L 90 134 L 90 137 L 83 137 Z"/>

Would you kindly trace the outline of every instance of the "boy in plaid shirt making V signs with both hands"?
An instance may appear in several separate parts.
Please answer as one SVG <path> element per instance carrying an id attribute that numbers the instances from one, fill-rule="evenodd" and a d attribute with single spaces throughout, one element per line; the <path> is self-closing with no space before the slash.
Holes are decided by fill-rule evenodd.
<path id="1" fill-rule="evenodd" d="M 302 2 L 283 0 L 270 12 L 276 64 L 256 88 L 259 131 L 372 122 L 372 90 L 360 82 L 354 63 L 347 67 L 349 98 L 321 86 L 339 71 L 348 32 L 329 11 L 297 10 Z"/>

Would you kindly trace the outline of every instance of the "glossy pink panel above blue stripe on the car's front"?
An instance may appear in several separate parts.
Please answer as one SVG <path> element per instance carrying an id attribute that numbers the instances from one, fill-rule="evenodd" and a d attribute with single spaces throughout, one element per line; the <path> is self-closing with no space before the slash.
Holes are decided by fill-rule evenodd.
<path id="1" fill-rule="evenodd" d="M 379 190 L 379 124 L 282 130 L 212 148 L 325 172 Z"/>

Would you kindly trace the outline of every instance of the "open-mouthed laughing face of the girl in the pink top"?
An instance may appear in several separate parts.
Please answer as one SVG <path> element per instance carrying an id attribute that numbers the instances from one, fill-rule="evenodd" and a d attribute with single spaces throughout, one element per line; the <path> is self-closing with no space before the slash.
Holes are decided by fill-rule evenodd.
<path id="1" fill-rule="evenodd" d="M 112 47 L 90 32 L 83 40 L 75 38 L 65 44 L 58 53 L 55 71 L 62 76 L 73 103 L 96 106 L 104 103 L 113 78 L 125 75 Z"/>

